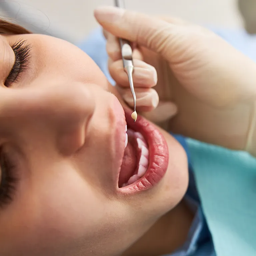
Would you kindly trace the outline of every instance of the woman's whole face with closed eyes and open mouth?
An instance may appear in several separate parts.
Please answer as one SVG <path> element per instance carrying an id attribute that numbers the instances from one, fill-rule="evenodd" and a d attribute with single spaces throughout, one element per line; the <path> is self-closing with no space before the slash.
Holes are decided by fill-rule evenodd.
<path id="1" fill-rule="evenodd" d="M 0 255 L 120 254 L 181 200 L 182 147 L 131 122 L 74 45 L 44 35 L 1 35 L 0 45 Z"/>

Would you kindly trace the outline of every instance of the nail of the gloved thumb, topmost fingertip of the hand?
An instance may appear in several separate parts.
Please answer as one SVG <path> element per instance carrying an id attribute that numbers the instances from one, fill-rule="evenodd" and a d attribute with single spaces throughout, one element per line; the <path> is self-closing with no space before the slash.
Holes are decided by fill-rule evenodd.
<path id="1" fill-rule="evenodd" d="M 95 9 L 94 16 L 99 22 L 115 22 L 122 17 L 124 12 L 122 8 L 106 6 Z"/>

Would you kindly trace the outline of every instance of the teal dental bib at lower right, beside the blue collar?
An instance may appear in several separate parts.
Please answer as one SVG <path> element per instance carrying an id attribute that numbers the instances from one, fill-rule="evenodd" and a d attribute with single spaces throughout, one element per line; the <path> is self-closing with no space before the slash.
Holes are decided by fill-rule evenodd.
<path id="1" fill-rule="evenodd" d="M 256 159 L 187 139 L 201 204 L 218 256 L 256 255 Z"/>

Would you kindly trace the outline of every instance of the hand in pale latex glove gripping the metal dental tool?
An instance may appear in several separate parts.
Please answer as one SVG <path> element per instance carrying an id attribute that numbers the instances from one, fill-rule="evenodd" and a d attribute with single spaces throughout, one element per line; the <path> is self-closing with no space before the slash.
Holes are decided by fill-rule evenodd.
<path id="1" fill-rule="evenodd" d="M 175 114 L 176 105 L 178 114 L 170 120 L 169 130 L 256 154 L 256 64 L 252 60 L 214 33 L 178 19 L 163 20 L 115 7 L 96 9 L 95 17 L 108 33 L 136 43 L 137 58 L 156 68 L 154 88 L 160 102 L 168 103 L 156 107 L 156 94 L 149 89 L 155 83 L 155 73 L 148 66 L 151 71 L 144 71 L 144 77 L 148 75 L 144 84 L 136 83 L 138 98 L 138 92 L 144 92 L 154 99 L 151 108 L 150 100 L 145 104 L 144 110 L 150 111 L 146 117 L 163 121 L 170 109 L 170 116 Z M 107 38 L 111 74 L 128 92 L 118 42 L 109 34 Z M 134 64 L 146 65 L 139 60 Z M 129 96 L 122 95 L 133 106 Z"/>

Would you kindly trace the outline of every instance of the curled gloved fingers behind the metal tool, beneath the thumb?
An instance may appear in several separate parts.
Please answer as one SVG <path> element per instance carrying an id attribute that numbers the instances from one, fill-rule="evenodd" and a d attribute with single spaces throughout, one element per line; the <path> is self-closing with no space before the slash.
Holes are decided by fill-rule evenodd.
<path id="1" fill-rule="evenodd" d="M 125 102 L 133 109 L 133 97 L 127 74 L 124 72 L 118 39 L 107 31 L 104 31 L 104 35 L 107 39 L 106 48 L 109 55 L 108 68 L 110 75 L 116 81 L 116 88 Z M 166 95 L 165 97 L 161 95 L 159 102 L 159 88 L 156 87 L 157 91 L 152 88 L 161 84 L 157 81 L 157 71 L 155 67 L 143 60 L 142 52 L 138 48 L 134 48 L 133 82 L 137 98 L 136 110 L 150 121 L 159 124 L 173 117 L 177 113 L 177 106 L 168 100 Z"/>

